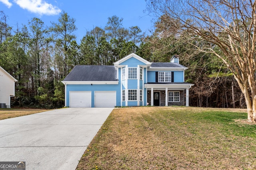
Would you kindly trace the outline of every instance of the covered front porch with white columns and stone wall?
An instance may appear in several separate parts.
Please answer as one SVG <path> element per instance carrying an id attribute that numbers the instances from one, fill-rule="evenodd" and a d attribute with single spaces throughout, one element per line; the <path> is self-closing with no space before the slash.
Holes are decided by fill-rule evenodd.
<path id="1" fill-rule="evenodd" d="M 189 106 L 189 83 L 145 84 L 149 106 Z"/>

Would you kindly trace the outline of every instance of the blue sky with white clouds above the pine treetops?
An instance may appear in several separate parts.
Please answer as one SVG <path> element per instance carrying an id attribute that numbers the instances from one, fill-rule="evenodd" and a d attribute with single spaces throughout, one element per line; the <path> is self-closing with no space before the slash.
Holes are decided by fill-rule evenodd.
<path id="1" fill-rule="evenodd" d="M 7 23 L 16 29 L 27 25 L 31 18 L 40 18 L 45 25 L 50 21 L 58 22 L 63 10 L 76 19 L 78 30 L 75 32 L 78 43 L 86 31 L 94 27 L 104 28 L 108 17 L 123 18 L 123 26 L 138 26 L 142 32 L 152 29 L 152 17 L 144 13 L 145 0 L 0 0 L 0 10 L 7 18 Z"/>

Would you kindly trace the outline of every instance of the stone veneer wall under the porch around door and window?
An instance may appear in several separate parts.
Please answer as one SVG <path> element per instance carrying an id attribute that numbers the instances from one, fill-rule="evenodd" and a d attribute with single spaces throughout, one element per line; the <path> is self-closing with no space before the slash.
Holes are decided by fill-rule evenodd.
<path id="1" fill-rule="evenodd" d="M 169 90 L 171 91 L 171 90 Z M 169 92 L 168 91 L 168 92 Z M 177 91 L 177 90 L 174 90 Z M 168 106 L 184 106 L 184 90 L 178 90 L 180 92 L 180 102 L 168 102 Z M 160 92 L 160 106 L 165 106 L 165 90 L 164 91 L 154 91 Z M 148 106 L 151 105 L 151 90 L 147 92 Z"/>

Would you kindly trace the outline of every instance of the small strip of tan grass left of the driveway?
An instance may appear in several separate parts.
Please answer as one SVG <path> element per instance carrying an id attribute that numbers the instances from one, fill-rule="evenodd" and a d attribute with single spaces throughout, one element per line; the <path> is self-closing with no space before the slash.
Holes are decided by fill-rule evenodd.
<path id="1" fill-rule="evenodd" d="M 0 120 L 46 111 L 45 109 L 0 109 Z"/>

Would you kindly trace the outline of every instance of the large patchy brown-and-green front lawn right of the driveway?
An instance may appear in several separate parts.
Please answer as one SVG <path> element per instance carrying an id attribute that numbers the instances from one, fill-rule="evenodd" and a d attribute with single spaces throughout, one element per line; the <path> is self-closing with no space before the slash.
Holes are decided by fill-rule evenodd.
<path id="1" fill-rule="evenodd" d="M 246 123 L 245 112 L 198 107 L 114 109 L 77 170 L 256 169 L 256 124 Z"/>

